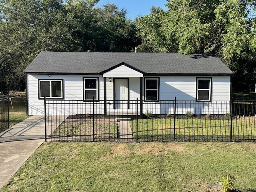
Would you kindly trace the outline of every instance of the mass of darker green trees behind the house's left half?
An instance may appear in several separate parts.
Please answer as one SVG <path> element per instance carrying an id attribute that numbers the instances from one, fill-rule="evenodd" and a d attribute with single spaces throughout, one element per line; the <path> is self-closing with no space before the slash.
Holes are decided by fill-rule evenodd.
<path id="1" fill-rule="evenodd" d="M 0 0 L 0 88 L 24 90 L 24 69 L 42 51 L 129 52 L 126 11 L 99 0 Z"/>

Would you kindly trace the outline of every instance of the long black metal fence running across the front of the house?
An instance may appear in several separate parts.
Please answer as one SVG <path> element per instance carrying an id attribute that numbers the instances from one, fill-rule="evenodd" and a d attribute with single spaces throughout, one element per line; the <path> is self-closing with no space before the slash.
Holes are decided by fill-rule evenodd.
<path id="1" fill-rule="evenodd" d="M 45 100 L 46 140 L 256 141 L 254 101 Z"/>

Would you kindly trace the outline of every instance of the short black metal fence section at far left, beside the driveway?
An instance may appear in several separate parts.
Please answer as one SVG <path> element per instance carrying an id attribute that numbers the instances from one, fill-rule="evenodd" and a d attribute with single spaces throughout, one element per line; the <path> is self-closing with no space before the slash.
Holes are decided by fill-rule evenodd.
<path id="1" fill-rule="evenodd" d="M 0 132 L 9 128 L 9 95 L 0 95 Z"/>

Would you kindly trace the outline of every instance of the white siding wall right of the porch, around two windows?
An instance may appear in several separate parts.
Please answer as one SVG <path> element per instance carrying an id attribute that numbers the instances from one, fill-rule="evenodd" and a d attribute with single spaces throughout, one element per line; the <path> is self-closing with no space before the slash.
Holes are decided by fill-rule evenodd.
<path id="1" fill-rule="evenodd" d="M 144 76 L 147 77 L 158 76 Z M 211 102 L 196 102 L 196 78 L 212 78 Z M 161 100 L 174 100 L 176 97 L 178 101 L 191 101 L 177 104 L 176 114 L 226 114 L 230 112 L 226 102 L 230 100 L 230 86 L 230 76 L 160 76 L 160 102 L 144 102 L 143 113 L 174 114 L 174 104 L 163 104 Z"/>

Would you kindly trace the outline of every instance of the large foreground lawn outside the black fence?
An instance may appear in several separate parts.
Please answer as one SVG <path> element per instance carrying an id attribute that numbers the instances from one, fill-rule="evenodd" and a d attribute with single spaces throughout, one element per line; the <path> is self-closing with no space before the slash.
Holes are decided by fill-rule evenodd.
<path id="1" fill-rule="evenodd" d="M 47 142 L 0 192 L 206 192 L 223 176 L 256 191 L 256 144 Z"/>

